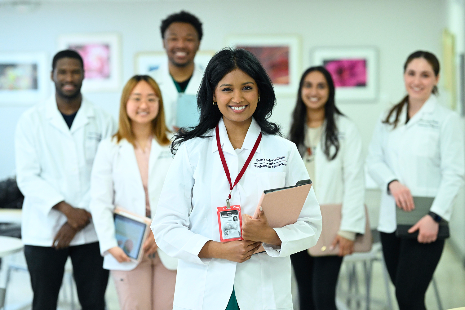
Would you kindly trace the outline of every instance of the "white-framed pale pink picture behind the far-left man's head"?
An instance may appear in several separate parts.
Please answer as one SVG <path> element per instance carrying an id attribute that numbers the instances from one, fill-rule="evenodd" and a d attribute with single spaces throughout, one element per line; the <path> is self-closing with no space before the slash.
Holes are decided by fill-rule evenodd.
<path id="1" fill-rule="evenodd" d="M 61 35 L 58 48 L 74 50 L 84 60 L 83 92 L 118 90 L 121 80 L 121 46 L 117 33 Z"/>

